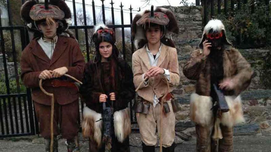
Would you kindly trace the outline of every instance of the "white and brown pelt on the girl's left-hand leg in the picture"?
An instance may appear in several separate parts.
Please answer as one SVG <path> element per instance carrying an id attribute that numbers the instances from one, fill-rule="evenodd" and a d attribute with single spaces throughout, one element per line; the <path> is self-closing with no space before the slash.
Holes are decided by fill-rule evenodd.
<path id="1" fill-rule="evenodd" d="M 82 122 L 83 137 L 90 138 L 92 141 L 95 141 L 97 146 L 99 147 L 102 140 L 102 128 L 102 114 L 97 113 L 88 107 L 84 107 Z"/>

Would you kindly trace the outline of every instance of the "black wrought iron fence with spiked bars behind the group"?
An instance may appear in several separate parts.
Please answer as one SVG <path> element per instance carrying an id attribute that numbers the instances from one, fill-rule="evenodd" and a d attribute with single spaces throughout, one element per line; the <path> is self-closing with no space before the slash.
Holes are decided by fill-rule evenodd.
<path id="1" fill-rule="evenodd" d="M 22 5 L 26 0 L 20 1 Z M 97 0 L 98 1 L 98 0 Z M 111 23 L 108 25 L 108 27 L 113 28 L 114 30 L 116 29 L 121 29 L 121 37 L 118 39 L 121 39 L 122 41 L 122 48 L 121 52 L 123 54 L 123 58 L 127 59 L 127 51 L 130 51 L 128 54 L 132 54 L 134 52 L 134 44 L 133 44 L 133 39 L 132 37 L 128 37 L 130 39 L 129 42 L 131 45 L 131 50 L 127 50 L 125 47 L 125 28 L 131 29 L 131 24 L 124 24 L 123 20 L 123 14 L 129 14 L 130 16 L 130 23 L 132 22 L 133 18 L 133 12 L 137 13 L 137 10 L 133 10 L 133 8 L 130 7 L 128 9 L 124 9 L 124 6 L 122 3 L 120 4 L 119 8 L 114 8 L 113 1 L 111 0 L 111 8 L 105 7 L 104 2 L 105 0 L 102 1 L 102 6 L 95 6 L 94 0 L 92 0 L 91 4 L 86 4 L 85 0 L 82 0 L 81 2 L 75 2 L 75 0 L 66 0 L 67 2 L 72 3 L 72 8 L 71 10 L 74 12 L 73 13 L 73 20 L 74 20 L 74 25 L 70 26 L 70 29 L 74 31 L 76 39 L 79 41 L 80 48 L 83 52 L 86 54 L 86 60 L 89 61 L 91 55 L 95 52 L 95 48 L 89 41 L 89 34 L 90 30 L 94 28 L 96 24 L 98 24 L 98 20 L 96 20 L 96 9 L 101 8 L 102 12 L 102 22 L 106 22 L 106 13 L 105 9 L 110 9 L 111 10 Z M 0 60 L 0 66 L 3 67 L 2 72 L 3 74 L 1 75 L 0 73 L 0 138 L 4 137 L 12 137 L 12 136 L 22 136 L 22 135 L 33 135 L 33 134 L 38 134 L 38 122 L 35 116 L 34 112 L 34 105 L 31 99 L 31 90 L 30 88 L 27 88 L 26 91 L 21 91 L 23 84 L 20 82 L 20 65 L 19 65 L 19 58 L 20 58 L 20 53 L 22 50 L 26 47 L 26 45 L 30 41 L 30 34 L 28 33 L 27 29 L 23 25 L 13 25 L 13 18 L 12 18 L 12 9 L 10 8 L 10 0 L 6 0 L 6 9 L 8 12 L 8 25 L 2 26 L 2 19 L 0 16 L 0 43 L 1 43 L 1 52 L 2 53 L 2 60 Z M 77 23 L 77 14 L 76 14 L 76 5 L 79 4 L 82 5 L 83 8 L 83 25 L 78 25 Z M 91 6 L 92 8 L 92 25 L 87 24 L 87 17 L 86 17 L 86 6 Z M 115 24 L 115 11 L 117 10 L 120 12 L 120 24 Z M 123 12 L 125 11 L 125 12 Z M 14 13 L 13 13 L 14 14 Z M 19 13 L 17 13 L 19 14 Z M 16 37 L 14 37 L 14 31 L 16 31 Z M 83 32 L 84 38 L 83 40 L 79 39 L 80 33 Z M 8 36 L 6 36 L 8 35 Z M 131 35 L 131 33 L 130 33 Z M 19 37 L 19 38 L 18 38 Z M 7 39 L 9 38 L 9 39 Z M 10 43 L 10 45 L 9 45 Z M 89 44 L 89 45 L 86 45 Z M 10 48 L 9 48 L 10 47 Z M 7 51 L 11 51 L 11 57 L 6 57 L 8 54 Z M 11 61 L 8 60 L 8 58 L 11 58 Z M 129 57 L 128 59 L 130 59 Z M 14 64 L 14 79 L 11 79 L 9 77 L 10 72 L 9 72 L 9 67 L 8 64 L 9 62 L 13 62 Z M 15 88 L 15 89 L 14 89 Z M 15 90 L 15 91 L 14 91 Z M 132 101 L 130 102 L 130 107 L 132 107 Z M 82 120 L 82 112 L 83 112 L 83 107 L 84 103 L 80 103 L 80 120 Z M 135 113 L 131 112 L 131 120 L 132 123 L 136 123 L 135 120 Z"/>

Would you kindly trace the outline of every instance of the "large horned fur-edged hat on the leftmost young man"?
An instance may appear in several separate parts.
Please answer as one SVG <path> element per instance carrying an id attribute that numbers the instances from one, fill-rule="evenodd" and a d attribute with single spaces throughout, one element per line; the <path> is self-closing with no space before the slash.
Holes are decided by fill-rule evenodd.
<path id="1" fill-rule="evenodd" d="M 36 21 L 52 18 L 58 21 L 60 33 L 71 25 L 71 10 L 63 0 L 28 0 L 20 10 L 22 20 L 32 31 L 37 31 Z"/>

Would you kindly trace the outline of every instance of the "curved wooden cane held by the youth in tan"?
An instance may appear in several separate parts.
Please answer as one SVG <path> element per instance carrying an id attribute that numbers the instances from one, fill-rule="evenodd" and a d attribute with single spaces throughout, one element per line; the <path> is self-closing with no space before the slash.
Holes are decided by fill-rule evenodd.
<path id="1" fill-rule="evenodd" d="M 162 142 L 163 142 L 163 136 L 162 136 L 162 132 L 163 132 L 163 108 L 164 108 L 164 100 L 166 99 L 166 96 L 168 95 L 169 93 L 169 84 L 168 84 L 168 80 L 165 76 L 163 76 L 165 81 L 167 82 L 167 92 L 166 94 L 164 94 L 164 96 L 162 97 L 161 99 L 161 115 L 160 115 L 160 152 L 162 152 Z M 145 80 L 147 80 L 148 77 L 145 77 L 145 79 L 139 84 L 139 86 L 136 88 L 136 92 L 139 90 L 140 86 L 144 83 Z"/>

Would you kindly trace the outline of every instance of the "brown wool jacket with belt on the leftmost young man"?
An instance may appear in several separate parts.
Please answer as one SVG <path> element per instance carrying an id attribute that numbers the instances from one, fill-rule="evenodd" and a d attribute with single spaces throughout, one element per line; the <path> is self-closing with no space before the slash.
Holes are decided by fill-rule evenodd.
<path id="1" fill-rule="evenodd" d="M 67 74 L 82 80 L 84 64 L 85 60 L 80 47 L 73 38 L 59 36 L 51 60 L 44 53 L 37 39 L 33 39 L 22 52 L 21 79 L 26 87 L 31 88 L 32 99 L 35 102 L 51 105 L 51 97 L 45 95 L 39 88 L 39 74 L 43 70 L 54 70 L 66 66 L 68 68 Z M 78 99 L 78 90 L 75 88 L 44 87 L 44 89 L 53 93 L 55 100 L 62 105 Z"/>

